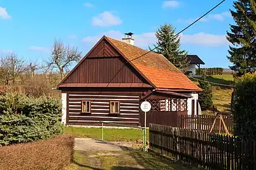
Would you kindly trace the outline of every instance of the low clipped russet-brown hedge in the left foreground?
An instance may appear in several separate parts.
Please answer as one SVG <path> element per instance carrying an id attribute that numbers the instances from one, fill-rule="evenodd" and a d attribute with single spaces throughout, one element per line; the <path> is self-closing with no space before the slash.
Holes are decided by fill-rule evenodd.
<path id="1" fill-rule="evenodd" d="M 0 169 L 63 169 L 73 159 L 74 138 L 53 139 L 0 147 Z"/>

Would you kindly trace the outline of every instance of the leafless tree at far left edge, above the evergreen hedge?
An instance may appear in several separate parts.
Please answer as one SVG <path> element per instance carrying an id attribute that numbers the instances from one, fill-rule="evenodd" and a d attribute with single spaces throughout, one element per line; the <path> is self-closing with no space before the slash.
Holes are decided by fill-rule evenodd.
<path id="1" fill-rule="evenodd" d="M 9 81 L 15 81 L 21 74 L 25 73 L 27 67 L 23 59 L 19 59 L 14 53 L 10 53 L 0 60 L 0 77 L 5 85 L 9 85 Z"/>

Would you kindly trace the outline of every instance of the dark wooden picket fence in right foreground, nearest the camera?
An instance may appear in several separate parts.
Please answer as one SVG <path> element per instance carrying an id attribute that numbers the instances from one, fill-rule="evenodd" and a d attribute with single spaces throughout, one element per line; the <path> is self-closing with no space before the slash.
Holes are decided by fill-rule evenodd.
<path id="1" fill-rule="evenodd" d="M 165 125 L 149 125 L 150 149 L 205 169 L 256 169 L 256 142 Z"/>

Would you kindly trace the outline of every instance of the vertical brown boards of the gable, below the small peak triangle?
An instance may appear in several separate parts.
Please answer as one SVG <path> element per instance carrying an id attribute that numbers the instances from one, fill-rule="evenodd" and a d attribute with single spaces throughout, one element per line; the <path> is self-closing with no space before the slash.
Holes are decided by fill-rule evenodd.
<path id="1" fill-rule="evenodd" d="M 125 64 L 121 57 L 91 58 L 83 61 L 64 83 L 108 83 Z M 126 65 L 111 83 L 147 83 L 138 72 Z"/>

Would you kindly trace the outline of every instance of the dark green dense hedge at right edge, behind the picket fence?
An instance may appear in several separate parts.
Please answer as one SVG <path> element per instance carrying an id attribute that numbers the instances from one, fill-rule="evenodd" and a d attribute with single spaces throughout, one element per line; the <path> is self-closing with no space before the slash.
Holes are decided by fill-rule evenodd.
<path id="1" fill-rule="evenodd" d="M 235 80 L 231 103 L 235 135 L 256 139 L 256 74 Z"/>

